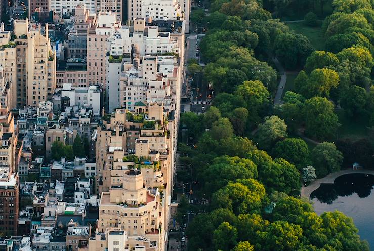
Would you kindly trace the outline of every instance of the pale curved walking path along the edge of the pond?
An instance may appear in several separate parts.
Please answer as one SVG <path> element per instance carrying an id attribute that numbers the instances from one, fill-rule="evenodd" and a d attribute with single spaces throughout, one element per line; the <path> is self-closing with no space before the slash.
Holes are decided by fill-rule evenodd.
<path id="1" fill-rule="evenodd" d="M 346 169 L 341 170 L 332 174 L 327 175 L 326 177 L 323 177 L 321 179 L 313 181 L 309 186 L 302 187 L 300 191 L 300 196 L 308 198 L 310 200 L 310 194 L 319 188 L 319 186 L 323 184 L 334 184 L 334 181 L 339 176 L 345 175 L 345 174 L 371 174 L 374 175 L 374 170 L 368 170 L 368 169 L 362 169 L 359 168 L 358 170 L 352 170 L 352 169 Z"/>

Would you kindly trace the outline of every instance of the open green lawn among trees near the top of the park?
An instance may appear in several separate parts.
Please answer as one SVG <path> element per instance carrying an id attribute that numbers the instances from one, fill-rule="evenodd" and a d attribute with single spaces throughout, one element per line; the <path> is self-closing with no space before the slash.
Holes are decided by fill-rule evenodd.
<path id="1" fill-rule="evenodd" d="M 304 25 L 303 22 L 286 23 L 286 25 L 296 33 L 306 36 L 317 51 L 323 51 L 325 49 L 324 34 L 321 27 L 308 27 Z"/>

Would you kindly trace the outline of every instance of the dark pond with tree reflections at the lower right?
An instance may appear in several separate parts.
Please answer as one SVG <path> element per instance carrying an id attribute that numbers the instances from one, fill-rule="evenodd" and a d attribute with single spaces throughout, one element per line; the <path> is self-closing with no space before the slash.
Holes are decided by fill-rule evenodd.
<path id="1" fill-rule="evenodd" d="M 334 184 L 321 184 L 311 199 L 318 215 L 339 210 L 352 217 L 361 239 L 374 250 L 374 176 L 348 174 L 338 177 Z"/>

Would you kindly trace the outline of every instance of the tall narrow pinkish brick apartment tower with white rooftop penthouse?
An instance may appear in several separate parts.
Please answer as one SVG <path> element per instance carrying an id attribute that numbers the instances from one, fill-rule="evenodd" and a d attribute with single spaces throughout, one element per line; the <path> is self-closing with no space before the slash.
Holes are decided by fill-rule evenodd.
<path id="1" fill-rule="evenodd" d="M 120 26 L 113 13 L 100 13 L 89 28 L 87 35 L 87 82 L 88 85 L 101 85 L 106 88 L 106 53 L 108 38 Z"/>

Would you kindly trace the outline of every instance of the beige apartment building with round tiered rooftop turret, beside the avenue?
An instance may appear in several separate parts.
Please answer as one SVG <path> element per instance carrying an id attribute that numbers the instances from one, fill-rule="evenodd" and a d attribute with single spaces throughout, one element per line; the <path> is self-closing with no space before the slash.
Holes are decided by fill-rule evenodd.
<path id="1" fill-rule="evenodd" d="M 101 194 L 98 228 L 126 232 L 130 249 L 146 240 L 146 250 L 165 250 L 163 209 L 158 188 L 147 187 L 142 171 L 128 170 L 120 186 Z"/>

